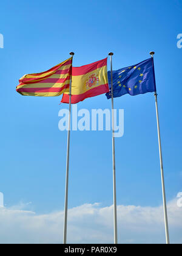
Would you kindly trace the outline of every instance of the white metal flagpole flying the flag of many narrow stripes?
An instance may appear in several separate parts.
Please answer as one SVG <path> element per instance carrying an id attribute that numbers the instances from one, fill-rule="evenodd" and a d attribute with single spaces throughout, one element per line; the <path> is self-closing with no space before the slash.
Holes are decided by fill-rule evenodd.
<path id="1" fill-rule="evenodd" d="M 74 52 L 70 52 L 70 55 L 72 56 L 72 59 L 73 59 Z M 72 77 L 70 78 L 70 87 L 69 87 L 69 123 L 68 123 L 68 131 L 67 131 L 67 160 L 66 160 L 66 188 L 65 188 L 65 204 L 64 204 L 63 244 L 66 244 L 66 238 L 67 238 L 67 201 L 68 201 L 68 185 L 69 185 L 71 105 L 72 105 Z"/>

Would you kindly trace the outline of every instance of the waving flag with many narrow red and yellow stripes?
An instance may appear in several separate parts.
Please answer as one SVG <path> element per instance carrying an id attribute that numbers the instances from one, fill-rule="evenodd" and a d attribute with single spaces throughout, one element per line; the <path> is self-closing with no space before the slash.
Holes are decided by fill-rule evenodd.
<path id="1" fill-rule="evenodd" d="M 27 96 L 59 96 L 69 91 L 72 57 L 42 73 L 25 74 L 16 91 Z"/>

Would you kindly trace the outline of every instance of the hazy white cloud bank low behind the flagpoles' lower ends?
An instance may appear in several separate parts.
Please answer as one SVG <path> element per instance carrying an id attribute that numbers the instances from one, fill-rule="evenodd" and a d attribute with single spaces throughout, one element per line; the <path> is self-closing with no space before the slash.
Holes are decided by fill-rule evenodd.
<path id="1" fill-rule="evenodd" d="M 37 215 L 27 204 L 0 208 L 1 243 L 62 243 L 64 212 Z M 165 243 L 163 207 L 118 205 L 118 243 Z M 182 243 L 182 207 L 167 205 L 172 243 Z M 67 243 L 113 243 L 113 207 L 84 204 L 69 209 Z"/>

